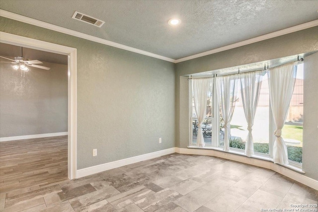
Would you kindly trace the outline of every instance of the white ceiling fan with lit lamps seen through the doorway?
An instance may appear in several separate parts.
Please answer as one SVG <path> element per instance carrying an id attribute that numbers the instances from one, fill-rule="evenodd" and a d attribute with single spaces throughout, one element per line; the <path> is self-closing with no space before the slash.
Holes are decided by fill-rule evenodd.
<path id="1" fill-rule="evenodd" d="M 43 64 L 41 61 L 38 61 L 38 60 L 29 61 L 28 59 L 23 58 L 22 57 L 22 47 L 21 47 L 21 57 L 15 57 L 14 60 L 9 59 L 9 58 L 5 58 L 5 57 L 2 57 L 2 56 L 0 56 L 0 58 L 4 58 L 6 60 L 11 61 L 11 62 L 0 62 L 0 63 L 12 63 L 12 64 L 15 64 L 12 68 L 14 70 L 20 69 L 21 72 L 22 71 L 24 71 L 24 72 L 29 71 L 27 66 L 38 68 L 38 69 L 44 69 L 44 70 L 50 70 L 51 69 L 49 67 L 36 65 L 36 64 Z"/>

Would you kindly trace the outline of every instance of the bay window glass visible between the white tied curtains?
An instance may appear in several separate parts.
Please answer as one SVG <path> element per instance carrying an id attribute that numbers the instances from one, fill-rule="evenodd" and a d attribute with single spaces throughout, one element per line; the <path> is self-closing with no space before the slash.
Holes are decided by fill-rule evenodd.
<path id="1" fill-rule="evenodd" d="M 216 78 L 214 78 L 216 79 Z M 215 80 L 216 81 L 216 80 Z M 286 122 L 282 129 L 282 137 L 285 141 L 288 151 L 288 159 L 294 165 L 302 164 L 302 146 L 303 146 L 303 89 L 304 71 L 303 64 L 297 67 L 296 82 L 292 99 L 289 106 Z M 206 145 L 213 147 L 224 146 L 224 121 L 220 111 L 220 105 L 217 101 L 216 94 L 217 83 L 214 83 L 214 88 L 211 88 L 208 93 L 206 117 L 203 122 L 202 131 Z M 191 86 L 190 86 L 191 87 Z M 240 80 L 235 82 L 235 104 L 232 120 L 229 129 L 229 144 L 230 149 L 239 151 L 245 150 L 245 143 L 248 135 L 247 122 L 245 119 Z M 196 118 L 192 91 L 190 88 L 190 145 L 196 145 L 198 121 Z M 215 116 L 214 116 L 215 114 Z M 272 158 L 275 123 L 272 116 L 270 100 L 269 100 L 269 85 L 268 74 L 262 74 L 262 83 L 260 87 L 257 109 L 252 127 L 254 155 L 261 155 Z"/>

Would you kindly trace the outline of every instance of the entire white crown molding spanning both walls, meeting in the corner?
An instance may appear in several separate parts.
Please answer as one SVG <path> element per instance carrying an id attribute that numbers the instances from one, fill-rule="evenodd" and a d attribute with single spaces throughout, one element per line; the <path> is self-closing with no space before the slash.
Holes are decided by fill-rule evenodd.
<path id="1" fill-rule="evenodd" d="M 234 48 L 237 48 L 237 47 L 245 46 L 245 45 L 248 45 L 248 44 L 256 43 L 256 42 L 259 42 L 259 41 L 267 40 L 267 39 L 270 39 L 270 38 L 274 38 L 274 37 L 278 37 L 278 36 L 281 36 L 281 35 L 286 35 L 286 34 L 289 34 L 289 33 L 292 33 L 292 32 L 297 32 L 297 31 L 300 31 L 300 30 L 303 30 L 303 29 L 308 29 L 308 28 L 311 28 L 311 27 L 318 26 L 318 19 L 317 19 L 317 20 L 313 20 L 313 21 L 310 21 L 310 22 L 307 22 L 307 23 L 303 23 L 303 24 L 299 24 L 299 25 L 296 25 L 296 26 L 293 26 L 293 27 L 282 29 L 282 30 L 279 30 L 279 31 L 276 31 L 276 32 L 272 32 L 272 33 L 261 35 L 261 36 L 258 36 L 258 37 L 255 37 L 255 38 L 251 38 L 251 39 L 248 39 L 248 40 L 240 41 L 238 43 L 230 44 L 230 45 L 223 46 L 223 47 L 220 47 L 220 48 L 217 48 L 217 49 L 212 49 L 212 50 L 209 50 L 209 51 L 206 51 L 206 52 L 202 52 L 202 53 L 199 53 L 199 54 L 195 54 L 195 55 L 191 55 L 191 56 L 188 56 L 188 57 L 184 57 L 184 58 L 180 58 L 180 59 L 174 60 L 172 58 L 167 58 L 167 57 L 164 57 L 164 56 L 161 56 L 161 55 L 157 55 L 157 54 L 154 54 L 154 53 L 151 53 L 151 52 L 147 52 L 147 51 L 144 51 L 144 50 L 136 49 L 136 48 L 133 48 L 133 47 L 130 47 L 130 46 L 126 46 L 126 45 L 123 45 L 123 44 L 115 43 L 115 42 L 112 42 L 112 41 L 109 41 L 109 40 L 105 40 L 105 39 L 102 39 L 102 38 L 97 38 L 97 37 L 92 36 L 92 35 L 87 35 L 87 34 L 84 34 L 84 33 L 81 33 L 81 32 L 77 32 L 75 30 L 71 30 L 71 29 L 67 29 L 67 28 L 61 27 L 61 26 L 54 25 L 54 24 L 46 23 L 44 21 L 40 21 L 40 20 L 36 20 L 36 19 L 33 19 L 33 18 L 29 18 L 29 17 L 23 16 L 23 15 L 19 15 L 19 14 L 13 13 L 13 12 L 6 11 L 6 10 L 0 9 L 0 16 L 6 17 L 6 18 L 10 18 L 10 19 L 13 19 L 13 20 L 17 20 L 17 21 L 21 21 L 21 22 L 24 22 L 24 23 L 32 24 L 32 25 L 35 25 L 35 26 L 43 27 L 43 28 L 46 28 L 46 29 L 54 30 L 54 31 L 61 32 L 61 33 L 64 33 L 64 34 L 72 35 L 72 36 L 75 36 L 75 37 L 83 38 L 83 39 L 90 40 L 90 41 L 93 41 L 93 42 L 101 43 L 101 44 L 104 44 L 104 45 L 107 45 L 107 46 L 112 46 L 112 47 L 116 47 L 116 48 L 119 48 L 119 49 L 130 51 L 130 52 L 138 53 L 138 54 L 141 54 L 141 55 L 146 55 L 146 56 L 157 58 L 157 59 L 160 59 L 160 60 L 172 62 L 172 63 L 180 63 L 180 62 L 192 60 L 192 59 L 195 59 L 195 58 L 200 58 L 200 57 L 203 57 L 203 56 L 212 55 L 212 54 L 215 54 L 215 53 L 218 53 L 218 52 L 223 52 L 223 51 L 226 51 L 226 50 L 234 49 Z"/>

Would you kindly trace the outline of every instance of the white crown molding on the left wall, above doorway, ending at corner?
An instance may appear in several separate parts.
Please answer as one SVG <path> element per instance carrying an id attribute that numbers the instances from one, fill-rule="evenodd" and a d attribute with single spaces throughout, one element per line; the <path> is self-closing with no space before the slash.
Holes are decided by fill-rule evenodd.
<path id="1" fill-rule="evenodd" d="M 61 32 L 61 33 L 64 33 L 64 34 L 68 34 L 68 35 L 72 35 L 72 36 L 75 36 L 75 37 L 83 38 L 85 40 L 90 40 L 90 41 L 93 41 L 93 42 L 101 43 L 101 44 L 104 44 L 104 45 L 107 45 L 107 46 L 112 46 L 112 47 L 116 47 L 116 48 L 119 48 L 119 49 L 130 51 L 130 52 L 138 53 L 138 54 L 141 54 L 141 55 L 146 55 L 146 56 L 149 56 L 149 57 L 153 57 L 153 58 L 157 58 L 157 59 L 160 59 L 160 60 L 164 60 L 164 61 L 175 63 L 175 60 L 171 59 L 171 58 L 167 58 L 167 57 L 164 57 L 164 56 L 161 56 L 161 55 L 157 55 L 157 54 L 154 54 L 154 53 L 151 53 L 151 52 L 146 52 L 144 50 L 136 49 L 136 48 L 133 48 L 133 47 L 130 47 L 130 46 L 126 46 L 126 45 L 123 45 L 123 44 L 115 43 L 115 42 L 112 42 L 112 41 L 109 41 L 109 40 L 105 40 L 105 39 L 102 39 L 102 38 L 97 38 L 97 37 L 92 36 L 92 35 L 87 35 L 85 33 L 81 33 L 81 32 L 78 32 L 78 31 L 75 31 L 75 30 L 72 30 L 72 29 L 67 29 L 67 28 L 64 28 L 64 27 L 61 27 L 61 26 L 57 26 L 57 25 L 54 25 L 54 24 L 50 24 L 50 23 L 44 22 L 44 21 L 40 21 L 40 20 L 36 20 L 36 19 L 33 19 L 33 18 L 29 18 L 29 17 L 23 16 L 23 15 L 19 15 L 19 14 L 13 13 L 13 12 L 9 12 L 9 11 L 3 10 L 3 9 L 0 9 L 0 16 L 5 17 L 5 18 L 10 18 L 10 19 L 13 19 L 13 20 L 16 20 L 16 21 L 28 23 L 28 24 L 31 24 L 31 25 L 43 27 L 43 28 L 50 29 L 50 30 L 53 30 L 53 31 L 56 31 L 56 32 Z"/>

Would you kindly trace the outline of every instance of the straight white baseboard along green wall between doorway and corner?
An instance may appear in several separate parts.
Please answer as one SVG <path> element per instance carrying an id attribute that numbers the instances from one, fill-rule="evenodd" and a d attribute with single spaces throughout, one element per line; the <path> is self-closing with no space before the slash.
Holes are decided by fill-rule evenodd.
<path id="1" fill-rule="evenodd" d="M 118 168 L 121 166 L 126 166 L 132 163 L 137 163 L 143 160 L 153 159 L 166 154 L 171 154 L 175 152 L 175 147 L 163 149 L 160 151 L 155 151 L 147 154 L 142 154 L 134 157 L 129 157 L 121 160 L 112 161 L 109 163 L 104 163 L 96 166 L 91 166 L 83 169 L 77 170 L 76 178 L 85 177 L 91 174 L 96 174 L 102 171 L 106 171 L 113 168 Z"/>

